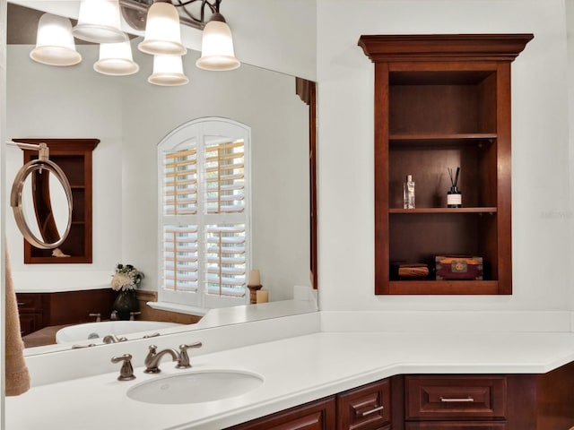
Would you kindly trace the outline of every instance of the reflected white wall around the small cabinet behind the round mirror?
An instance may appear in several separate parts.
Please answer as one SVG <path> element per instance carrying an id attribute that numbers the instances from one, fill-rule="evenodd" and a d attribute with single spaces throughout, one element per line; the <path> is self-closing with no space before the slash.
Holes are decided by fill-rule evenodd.
<path id="1" fill-rule="evenodd" d="M 108 286 L 121 261 L 122 95 L 116 82 L 91 69 L 92 62 L 71 68 L 30 60 L 32 47 L 11 45 L 7 57 L 6 136 L 98 138 L 93 156 L 93 263 L 23 264 L 23 240 L 11 213 L 6 238 L 16 288 L 34 286 Z M 85 57 L 90 49 L 80 47 Z M 93 49 L 92 49 L 93 50 Z M 6 149 L 6 186 L 22 167 L 22 150 Z M 9 193 L 4 193 L 10 210 Z M 82 274 L 80 275 L 79 272 Z M 58 285 L 59 284 L 59 285 Z"/>

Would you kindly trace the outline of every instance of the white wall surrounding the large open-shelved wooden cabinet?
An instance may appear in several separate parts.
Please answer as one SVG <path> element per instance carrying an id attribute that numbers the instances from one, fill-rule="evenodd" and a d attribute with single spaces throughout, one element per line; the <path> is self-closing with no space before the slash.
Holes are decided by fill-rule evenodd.
<path id="1" fill-rule="evenodd" d="M 512 65 L 509 297 L 376 297 L 373 64 L 361 34 L 532 32 Z M 562 0 L 317 0 L 322 310 L 568 309 L 570 148 Z"/>

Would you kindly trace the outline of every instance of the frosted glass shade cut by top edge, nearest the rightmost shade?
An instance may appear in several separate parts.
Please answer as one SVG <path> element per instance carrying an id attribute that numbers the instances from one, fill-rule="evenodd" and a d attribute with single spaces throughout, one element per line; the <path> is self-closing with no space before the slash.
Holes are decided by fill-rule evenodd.
<path id="1" fill-rule="evenodd" d="M 154 3 L 147 13 L 145 37 L 137 48 L 152 56 L 185 56 L 187 48 L 181 44 L 179 14 L 170 3 Z"/>

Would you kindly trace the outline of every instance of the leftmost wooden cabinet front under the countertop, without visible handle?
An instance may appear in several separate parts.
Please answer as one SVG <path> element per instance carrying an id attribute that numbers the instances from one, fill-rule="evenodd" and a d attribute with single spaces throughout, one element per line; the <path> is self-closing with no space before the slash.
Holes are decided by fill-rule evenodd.
<path id="1" fill-rule="evenodd" d="M 230 430 L 334 430 L 335 397 L 257 418 Z"/>

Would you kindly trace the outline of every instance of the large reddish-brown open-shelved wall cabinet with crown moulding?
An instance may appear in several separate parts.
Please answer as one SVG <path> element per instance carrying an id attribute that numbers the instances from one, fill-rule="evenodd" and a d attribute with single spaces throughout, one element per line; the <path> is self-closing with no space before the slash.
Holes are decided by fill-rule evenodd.
<path id="1" fill-rule="evenodd" d="M 361 36 L 375 64 L 376 294 L 511 294 L 510 64 L 532 38 Z M 457 167 L 462 207 L 448 208 Z M 437 255 L 482 257 L 483 279 L 436 280 Z M 430 274 L 396 279 L 392 262 Z"/>

